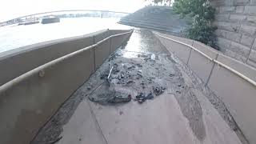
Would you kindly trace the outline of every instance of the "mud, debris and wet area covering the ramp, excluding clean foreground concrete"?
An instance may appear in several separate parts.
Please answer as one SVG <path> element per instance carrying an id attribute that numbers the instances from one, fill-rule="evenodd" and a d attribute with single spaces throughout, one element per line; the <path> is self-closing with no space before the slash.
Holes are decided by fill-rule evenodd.
<path id="1" fill-rule="evenodd" d="M 113 70 L 110 73 L 111 66 Z M 109 74 L 110 80 L 107 79 Z M 193 82 L 189 82 L 186 77 L 191 77 Z M 104 109 L 104 105 L 123 105 L 129 102 L 143 105 L 143 102 L 154 101 L 165 93 L 174 95 L 194 135 L 202 141 L 206 137 L 202 108 L 192 88 L 201 90 L 215 103 L 215 108 L 229 126 L 239 131 L 225 105 L 191 70 L 170 54 L 150 31 L 135 30 L 127 46 L 111 54 L 90 79 L 62 104 L 31 143 L 45 144 L 61 138 L 62 126 L 69 121 L 79 103 L 87 98 L 101 104 Z"/>

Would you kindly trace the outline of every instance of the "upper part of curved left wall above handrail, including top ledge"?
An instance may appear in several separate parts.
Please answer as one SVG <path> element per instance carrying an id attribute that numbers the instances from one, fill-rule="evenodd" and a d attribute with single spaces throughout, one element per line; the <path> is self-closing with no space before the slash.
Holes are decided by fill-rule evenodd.
<path id="1" fill-rule="evenodd" d="M 41 42 L 2 53 L 0 54 L 0 86 L 46 62 L 93 45 L 109 37 L 110 31 L 100 30 L 78 37 Z"/>

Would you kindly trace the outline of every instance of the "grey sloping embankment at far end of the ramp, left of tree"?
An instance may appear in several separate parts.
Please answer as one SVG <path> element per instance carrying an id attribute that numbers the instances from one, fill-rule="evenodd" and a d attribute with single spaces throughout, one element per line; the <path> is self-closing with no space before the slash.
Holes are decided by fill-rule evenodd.
<path id="1" fill-rule="evenodd" d="M 121 24 L 146 27 L 181 35 L 187 27 L 186 20 L 175 14 L 170 6 L 146 6 L 120 20 Z"/>

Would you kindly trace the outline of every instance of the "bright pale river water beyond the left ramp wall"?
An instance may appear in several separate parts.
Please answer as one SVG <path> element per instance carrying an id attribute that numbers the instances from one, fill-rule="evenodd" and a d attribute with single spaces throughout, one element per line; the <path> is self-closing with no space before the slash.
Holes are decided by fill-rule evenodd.
<path id="1" fill-rule="evenodd" d="M 38 42 L 89 34 L 103 29 L 130 29 L 119 18 L 61 18 L 61 22 L 42 25 L 0 27 L 0 53 Z"/>

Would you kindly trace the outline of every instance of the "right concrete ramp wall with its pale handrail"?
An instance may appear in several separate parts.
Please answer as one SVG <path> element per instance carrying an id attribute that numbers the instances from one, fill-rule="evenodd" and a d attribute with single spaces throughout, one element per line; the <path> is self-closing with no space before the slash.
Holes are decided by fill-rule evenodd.
<path id="1" fill-rule="evenodd" d="M 174 52 L 183 62 L 187 55 L 187 66 L 222 98 L 249 142 L 256 143 L 256 69 L 201 42 L 193 42 L 190 46 L 186 45 L 187 40 L 179 39 L 182 42 L 177 42 L 177 38 L 172 36 L 154 34 L 167 50 Z M 191 52 L 187 54 L 189 50 Z"/>

